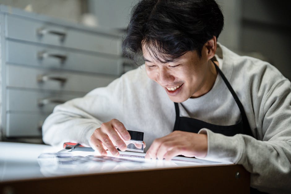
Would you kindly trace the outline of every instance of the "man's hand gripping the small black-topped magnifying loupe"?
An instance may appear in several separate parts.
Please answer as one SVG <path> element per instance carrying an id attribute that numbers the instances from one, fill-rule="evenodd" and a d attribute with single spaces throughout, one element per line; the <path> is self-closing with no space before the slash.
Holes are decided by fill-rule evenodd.
<path id="1" fill-rule="evenodd" d="M 130 140 L 130 135 L 124 125 L 117 119 L 112 119 L 107 123 L 102 123 L 101 126 L 93 132 L 90 137 L 91 145 L 101 155 L 107 155 L 106 149 L 112 155 L 118 156 L 119 152 L 115 145 L 121 150 L 126 150 L 124 141 Z"/>

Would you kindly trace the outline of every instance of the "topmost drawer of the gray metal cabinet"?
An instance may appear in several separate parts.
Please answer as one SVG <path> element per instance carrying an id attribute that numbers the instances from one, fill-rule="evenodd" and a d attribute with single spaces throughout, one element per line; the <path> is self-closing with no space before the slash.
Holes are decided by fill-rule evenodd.
<path id="1" fill-rule="evenodd" d="M 6 37 L 80 50 L 121 55 L 119 37 L 6 15 Z"/>

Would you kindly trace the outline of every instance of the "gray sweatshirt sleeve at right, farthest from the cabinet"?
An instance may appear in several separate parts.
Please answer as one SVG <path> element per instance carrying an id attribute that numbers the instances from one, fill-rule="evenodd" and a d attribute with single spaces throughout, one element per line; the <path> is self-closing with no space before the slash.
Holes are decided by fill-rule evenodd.
<path id="1" fill-rule="evenodd" d="M 241 164 L 251 173 L 251 186 L 268 193 L 291 191 L 291 85 L 276 82 L 262 100 L 255 133 L 263 139 L 233 137 L 201 129 L 208 136 L 205 159 Z"/>

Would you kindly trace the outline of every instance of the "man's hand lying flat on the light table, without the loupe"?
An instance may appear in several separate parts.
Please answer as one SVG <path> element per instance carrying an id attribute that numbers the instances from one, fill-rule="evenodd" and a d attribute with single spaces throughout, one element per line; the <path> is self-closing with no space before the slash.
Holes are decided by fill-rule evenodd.
<path id="1" fill-rule="evenodd" d="M 205 157 L 207 155 L 207 135 L 185 131 L 155 139 L 145 154 L 147 159 L 171 160 L 172 157 Z"/>

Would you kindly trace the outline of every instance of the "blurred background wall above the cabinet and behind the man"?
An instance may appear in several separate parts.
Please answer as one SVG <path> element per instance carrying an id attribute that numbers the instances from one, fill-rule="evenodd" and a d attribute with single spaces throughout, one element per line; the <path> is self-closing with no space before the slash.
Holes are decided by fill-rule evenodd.
<path id="1" fill-rule="evenodd" d="M 0 4 L 122 32 L 137 0 L 0 0 Z M 217 0 L 225 17 L 218 41 L 241 55 L 261 58 L 291 80 L 290 1 Z"/>

